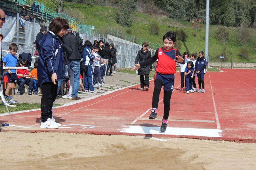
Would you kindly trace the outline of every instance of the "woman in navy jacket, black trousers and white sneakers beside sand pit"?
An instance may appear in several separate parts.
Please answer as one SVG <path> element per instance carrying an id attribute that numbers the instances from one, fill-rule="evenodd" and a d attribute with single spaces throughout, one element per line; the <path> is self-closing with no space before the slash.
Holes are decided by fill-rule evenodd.
<path id="1" fill-rule="evenodd" d="M 61 126 L 52 118 L 52 105 L 57 96 L 59 80 L 65 80 L 62 36 L 69 28 L 68 21 L 54 18 L 48 33 L 39 41 L 38 84 L 42 84 L 40 128 L 57 129 Z"/>

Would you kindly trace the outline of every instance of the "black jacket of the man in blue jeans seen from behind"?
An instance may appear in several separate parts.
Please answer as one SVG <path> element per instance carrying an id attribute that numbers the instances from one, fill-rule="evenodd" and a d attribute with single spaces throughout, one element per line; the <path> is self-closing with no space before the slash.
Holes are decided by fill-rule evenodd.
<path id="1" fill-rule="evenodd" d="M 66 36 L 63 37 L 64 43 L 73 49 L 71 55 L 68 57 L 69 60 L 81 60 L 81 55 L 84 52 L 82 42 L 80 37 L 77 37 L 71 32 L 68 32 Z M 78 44 L 79 43 L 79 44 Z"/>

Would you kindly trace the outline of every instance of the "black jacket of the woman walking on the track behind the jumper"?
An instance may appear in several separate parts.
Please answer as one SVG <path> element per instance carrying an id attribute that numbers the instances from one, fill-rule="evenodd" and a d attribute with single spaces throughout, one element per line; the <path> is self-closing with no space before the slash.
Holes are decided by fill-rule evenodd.
<path id="1" fill-rule="evenodd" d="M 135 59 L 135 64 L 138 64 L 140 62 L 146 61 L 149 58 L 151 58 L 151 53 L 150 51 L 144 52 L 143 48 L 141 48 L 141 50 L 138 52 L 137 57 Z M 138 75 L 145 75 L 145 74 L 149 74 L 149 71 L 152 70 L 152 64 L 150 65 L 145 65 L 145 66 L 141 66 L 138 69 Z"/>

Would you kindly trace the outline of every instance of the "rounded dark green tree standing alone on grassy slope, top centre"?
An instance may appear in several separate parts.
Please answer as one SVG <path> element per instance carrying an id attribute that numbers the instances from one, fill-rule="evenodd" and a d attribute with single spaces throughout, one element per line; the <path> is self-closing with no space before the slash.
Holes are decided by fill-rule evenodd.
<path id="1" fill-rule="evenodd" d="M 121 26 L 131 26 L 131 13 L 136 11 L 136 0 L 120 0 L 118 3 L 119 11 L 116 12 L 116 22 Z"/>

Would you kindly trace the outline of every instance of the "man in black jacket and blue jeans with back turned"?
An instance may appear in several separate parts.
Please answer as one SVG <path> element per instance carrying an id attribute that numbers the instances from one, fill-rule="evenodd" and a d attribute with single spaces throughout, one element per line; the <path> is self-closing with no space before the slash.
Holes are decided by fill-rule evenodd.
<path id="1" fill-rule="evenodd" d="M 81 55 L 84 52 L 83 44 L 80 37 L 77 37 L 72 33 L 72 28 L 67 29 L 67 34 L 63 37 L 65 44 L 72 48 L 72 53 L 68 57 L 70 66 L 70 87 L 72 88 L 72 100 L 81 99 L 77 97 L 79 91 L 79 75 L 80 75 L 80 60 Z M 70 90 L 69 87 L 69 90 Z M 68 95 L 68 94 L 67 94 Z"/>

